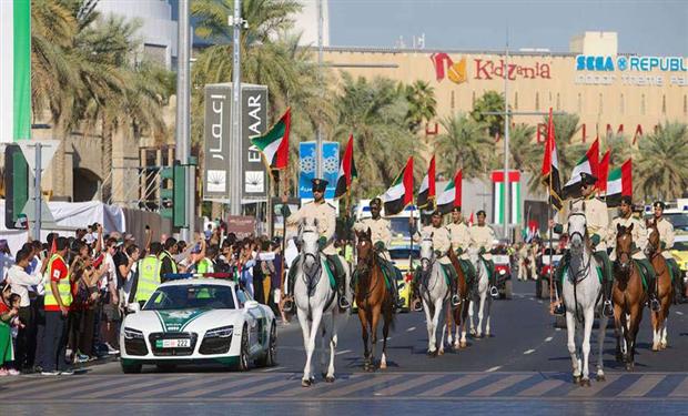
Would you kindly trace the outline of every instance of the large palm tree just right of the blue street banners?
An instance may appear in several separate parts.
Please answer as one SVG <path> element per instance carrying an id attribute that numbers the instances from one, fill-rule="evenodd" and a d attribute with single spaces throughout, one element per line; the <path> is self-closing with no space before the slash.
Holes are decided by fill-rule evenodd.
<path id="1" fill-rule="evenodd" d="M 342 74 L 334 136 L 344 142 L 354 135 L 360 196 L 384 192 L 409 155 L 416 158 L 414 171 L 422 177 L 424 161 L 418 159 L 421 141 L 406 128 L 408 102 L 405 93 L 385 78 L 368 82 Z"/>

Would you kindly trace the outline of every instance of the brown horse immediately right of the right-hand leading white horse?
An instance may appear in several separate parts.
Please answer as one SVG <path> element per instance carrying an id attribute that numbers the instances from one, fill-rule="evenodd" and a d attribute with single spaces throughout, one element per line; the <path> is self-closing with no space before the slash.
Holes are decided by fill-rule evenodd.
<path id="1" fill-rule="evenodd" d="M 611 293 L 616 326 L 616 359 L 619 363 L 625 361 L 628 371 L 635 366 L 636 337 L 643 321 L 643 305 L 647 298 L 640 271 L 633 261 L 633 224 L 628 227 L 617 224 L 615 282 Z"/>

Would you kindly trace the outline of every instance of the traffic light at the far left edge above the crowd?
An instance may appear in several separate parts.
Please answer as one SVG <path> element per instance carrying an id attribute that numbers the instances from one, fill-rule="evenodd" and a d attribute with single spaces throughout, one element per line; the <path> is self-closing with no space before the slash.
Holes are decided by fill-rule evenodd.
<path id="1" fill-rule="evenodd" d="M 4 226 L 24 229 L 19 224 L 21 211 L 29 201 L 29 164 L 21 148 L 8 144 L 4 148 Z M 26 217 L 26 216 L 24 216 Z"/>

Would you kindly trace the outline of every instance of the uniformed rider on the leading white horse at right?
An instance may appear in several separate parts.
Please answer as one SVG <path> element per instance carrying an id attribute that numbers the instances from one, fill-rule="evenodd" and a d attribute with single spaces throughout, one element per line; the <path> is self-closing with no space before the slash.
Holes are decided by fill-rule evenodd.
<path id="1" fill-rule="evenodd" d="M 611 262 L 609 255 L 607 255 L 607 239 L 609 239 L 609 215 L 607 214 L 607 204 L 601 200 L 595 197 L 595 184 L 597 177 L 589 173 L 580 173 L 580 194 L 583 195 L 578 200 L 573 202 L 573 207 L 578 209 L 585 213 L 585 219 L 588 229 L 588 236 L 590 244 L 593 245 L 593 253 L 597 264 L 603 271 L 603 296 L 604 308 L 603 313 L 607 317 L 614 316 L 614 308 L 611 307 L 611 288 L 614 287 L 614 274 L 611 273 Z M 555 233 L 560 234 L 563 231 L 561 224 L 556 224 L 554 227 Z M 614 233 L 616 235 L 616 233 Z M 559 302 L 556 305 L 555 315 L 564 315 L 565 308 L 561 303 L 561 278 L 564 277 L 564 271 L 568 267 L 570 260 L 570 253 L 567 251 L 559 267 L 557 268 L 556 285 L 557 293 L 559 294 Z"/>

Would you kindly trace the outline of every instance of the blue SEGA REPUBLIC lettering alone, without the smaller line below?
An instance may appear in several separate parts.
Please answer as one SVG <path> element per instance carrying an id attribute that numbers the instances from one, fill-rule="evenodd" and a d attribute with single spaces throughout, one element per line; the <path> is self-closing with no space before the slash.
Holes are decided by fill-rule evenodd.
<path id="1" fill-rule="evenodd" d="M 576 57 L 576 71 L 688 72 L 682 57 Z"/>

